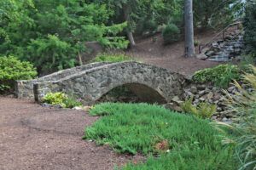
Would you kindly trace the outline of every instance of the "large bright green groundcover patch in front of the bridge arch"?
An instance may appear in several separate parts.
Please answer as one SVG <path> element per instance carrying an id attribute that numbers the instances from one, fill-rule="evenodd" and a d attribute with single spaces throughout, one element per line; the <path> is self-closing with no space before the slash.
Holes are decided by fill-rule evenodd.
<path id="1" fill-rule="evenodd" d="M 108 144 L 119 153 L 161 155 L 125 169 L 234 169 L 236 165 L 207 120 L 148 104 L 102 103 L 90 115 L 102 118 L 85 129 L 84 139 Z"/>

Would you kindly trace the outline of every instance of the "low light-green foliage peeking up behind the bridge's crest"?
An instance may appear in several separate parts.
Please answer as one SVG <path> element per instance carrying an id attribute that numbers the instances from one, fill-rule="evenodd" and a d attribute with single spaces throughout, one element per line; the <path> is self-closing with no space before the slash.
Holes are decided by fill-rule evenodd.
<path id="1" fill-rule="evenodd" d="M 98 54 L 95 59 L 91 62 L 122 62 L 122 61 L 132 61 L 130 56 L 125 54 Z"/>

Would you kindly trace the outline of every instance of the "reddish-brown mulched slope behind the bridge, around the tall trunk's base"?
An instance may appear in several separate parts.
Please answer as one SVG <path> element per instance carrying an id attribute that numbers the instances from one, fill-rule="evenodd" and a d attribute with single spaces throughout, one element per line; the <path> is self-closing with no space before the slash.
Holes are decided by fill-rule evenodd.
<path id="1" fill-rule="evenodd" d="M 201 44 L 205 44 L 211 41 L 215 35 L 216 33 L 212 33 L 212 31 L 205 31 L 196 34 L 195 39 L 201 42 Z M 198 54 L 198 48 L 195 48 L 195 51 Z M 175 42 L 165 46 L 160 34 L 155 35 L 154 38 L 150 37 L 137 41 L 136 47 L 128 50 L 126 54 L 145 63 L 158 65 L 186 76 L 191 76 L 195 71 L 203 68 L 220 64 L 202 59 L 184 58 L 184 42 Z"/>

